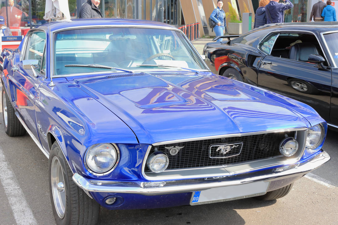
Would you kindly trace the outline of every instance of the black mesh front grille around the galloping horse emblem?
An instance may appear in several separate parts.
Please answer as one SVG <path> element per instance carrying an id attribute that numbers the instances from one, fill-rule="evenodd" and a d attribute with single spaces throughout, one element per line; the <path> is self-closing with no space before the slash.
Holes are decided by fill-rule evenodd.
<path id="1" fill-rule="evenodd" d="M 155 148 L 156 150 L 164 151 L 165 153 L 167 153 L 167 156 L 169 158 L 169 165 L 166 170 L 245 163 L 281 156 L 281 153 L 279 151 L 279 144 L 286 137 L 286 135 L 288 137 L 295 137 L 295 131 L 249 135 L 242 137 L 187 141 L 174 144 L 159 145 L 155 147 L 153 146 L 150 150 L 149 156 L 152 152 L 155 151 Z M 241 142 L 243 143 L 243 145 L 237 146 L 238 144 L 236 143 Z M 214 158 L 215 156 L 217 157 L 217 154 L 215 152 L 215 149 L 217 149 L 217 147 L 212 147 L 211 151 L 213 152 L 211 152 L 211 157 L 213 158 L 210 158 L 209 147 L 211 145 L 227 143 L 233 143 L 237 146 L 234 147 L 233 153 L 229 151 L 226 154 L 220 154 L 220 152 L 218 151 L 217 154 L 219 155 L 219 157 L 223 158 Z M 176 146 L 183 148 L 180 148 L 178 153 L 172 156 L 169 151 L 172 147 Z M 240 153 L 237 154 L 239 152 L 239 147 L 242 147 L 242 149 Z M 147 166 L 145 167 L 145 171 L 150 171 Z"/>

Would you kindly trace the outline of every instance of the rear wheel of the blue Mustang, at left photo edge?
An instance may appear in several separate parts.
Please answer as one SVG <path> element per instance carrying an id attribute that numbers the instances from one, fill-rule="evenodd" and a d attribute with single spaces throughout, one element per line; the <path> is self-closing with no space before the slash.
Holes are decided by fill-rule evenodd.
<path id="1" fill-rule="evenodd" d="M 5 133 L 9 137 L 22 136 L 26 133 L 25 128 L 21 124 L 18 117 L 15 115 L 14 108 L 10 103 L 8 94 L 2 86 L 2 119 L 5 128 Z"/>

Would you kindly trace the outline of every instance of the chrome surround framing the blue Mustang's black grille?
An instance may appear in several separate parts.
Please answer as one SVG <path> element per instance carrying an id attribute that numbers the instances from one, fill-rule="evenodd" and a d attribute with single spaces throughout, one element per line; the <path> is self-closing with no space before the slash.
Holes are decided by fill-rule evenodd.
<path id="1" fill-rule="evenodd" d="M 279 133 L 279 132 L 288 132 L 288 131 L 303 131 L 298 134 L 296 132 L 295 138 L 298 137 L 301 139 L 303 143 L 299 145 L 299 152 L 296 158 L 292 159 L 285 159 L 284 156 L 278 156 L 269 159 L 263 160 L 256 160 L 247 163 L 239 163 L 239 164 L 232 164 L 232 165 L 221 165 L 221 166 L 210 166 L 210 167 L 198 167 L 198 168 L 188 168 L 188 169 L 176 169 L 176 170 L 168 170 L 161 173 L 157 173 L 154 176 L 148 176 L 145 172 L 146 161 L 148 159 L 150 149 L 152 146 L 158 146 L 163 144 L 172 144 L 177 142 L 185 142 L 185 141 L 196 141 L 196 140 L 204 140 L 204 139 L 214 139 L 214 138 L 223 138 L 223 137 L 239 137 L 239 136 L 248 136 L 248 135 L 259 135 L 259 134 L 266 134 L 266 133 Z M 228 134 L 228 135 L 216 135 L 216 136 L 207 136 L 207 137 L 200 137 L 200 138 L 188 138 L 188 139 L 179 139 L 179 140 L 172 140 L 172 141 L 163 141 L 163 142 L 156 142 L 152 145 L 148 146 L 147 152 L 143 159 L 142 163 L 142 176 L 148 180 L 171 180 L 171 179 L 191 179 L 191 178 L 198 178 L 198 177 L 216 177 L 216 176 L 229 176 L 234 175 L 236 173 L 246 173 L 251 172 L 259 169 L 269 168 L 278 165 L 286 165 L 286 164 L 294 164 L 296 163 L 301 156 L 303 156 L 305 151 L 306 145 L 306 135 L 307 135 L 307 128 L 291 128 L 291 129 L 276 129 L 270 131 L 260 131 L 260 132 L 248 132 L 248 133 L 238 133 L 238 134 Z M 298 141 L 299 139 L 297 139 Z M 249 164 L 256 164 L 254 167 L 246 168 Z M 261 165 L 260 165 L 261 164 Z M 240 170 L 238 169 L 240 168 Z M 198 171 L 202 170 L 202 171 Z M 192 171 L 194 174 L 192 174 Z M 149 172 L 150 174 L 153 174 Z M 162 174 L 162 175 L 161 175 Z"/>

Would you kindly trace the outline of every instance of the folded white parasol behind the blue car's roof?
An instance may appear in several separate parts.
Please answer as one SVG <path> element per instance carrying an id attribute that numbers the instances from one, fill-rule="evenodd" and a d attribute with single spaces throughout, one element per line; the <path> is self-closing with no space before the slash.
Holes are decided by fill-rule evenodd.
<path id="1" fill-rule="evenodd" d="M 45 20 L 70 20 L 67 0 L 46 0 Z"/>

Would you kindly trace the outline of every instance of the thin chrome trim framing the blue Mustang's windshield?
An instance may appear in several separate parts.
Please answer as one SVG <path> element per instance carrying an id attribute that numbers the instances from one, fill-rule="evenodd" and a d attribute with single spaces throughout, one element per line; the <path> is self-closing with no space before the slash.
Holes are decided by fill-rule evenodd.
<path id="1" fill-rule="evenodd" d="M 185 38 L 188 41 L 188 45 L 190 45 L 191 49 L 195 52 L 195 54 L 197 54 L 199 56 L 198 51 L 195 49 L 195 47 L 193 46 L 193 44 L 190 42 L 190 40 L 187 38 L 187 36 L 183 33 L 183 31 L 177 29 L 176 27 L 163 27 L 163 26 L 157 26 L 157 25 L 84 25 L 84 26 L 74 26 L 74 27 L 68 27 L 68 28 L 60 28 L 60 29 L 56 29 L 53 31 L 50 31 L 50 37 L 49 37 L 49 43 L 50 43 L 50 61 L 49 61 L 49 68 L 50 68 L 50 77 L 51 78 L 57 78 L 57 77 L 65 77 L 65 76 L 56 76 L 54 75 L 54 47 L 55 47 L 55 43 L 54 43 L 54 35 L 59 32 L 59 31 L 66 31 L 66 30 L 75 30 L 75 29 L 86 29 L 86 28 L 114 28 L 114 27 L 119 27 L 119 28 L 150 28 L 150 29 L 163 29 L 163 30 L 172 30 L 172 31 L 176 31 L 179 32 L 181 34 L 183 34 L 183 38 Z M 197 57 L 197 58 L 201 58 L 201 57 Z M 211 70 L 208 70 L 208 65 L 206 64 L 206 62 L 204 62 L 204 60 L 200 59 L 202 62 L 202 65 L 204 65 L 205 69 L 200 70 L 200 71 L 208 71 L 211 72 Z M 102 73 L 102 72 L 101 72 Z M 88 75 L 90 73 L 81 73 L 83 75 Z M 76 74 L 79 75 L 79 74 Z M 70 76 L 70 74 L 69 74 Z"/>

